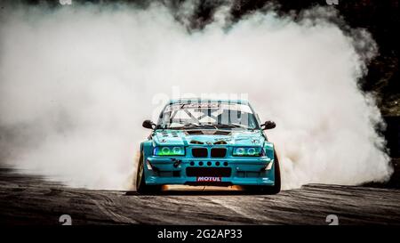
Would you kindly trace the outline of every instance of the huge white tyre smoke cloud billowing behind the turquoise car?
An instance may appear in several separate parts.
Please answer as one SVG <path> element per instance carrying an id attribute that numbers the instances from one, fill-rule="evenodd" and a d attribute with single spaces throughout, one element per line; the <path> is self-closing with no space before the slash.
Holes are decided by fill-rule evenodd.
<path id="1" fill-rule="evenodd" d="M 72 186 L 130 189 L 149 133 L 141 122 L 166 99 L 244 93 L 261 120 L 276 121 L 268 138 L 284 189 L 388 179 L 380 111 L 357 85 L 378 53 L 372 36 L 343 32 L 328 7 L 296 20 L 266 10 L 238 21 L 230 7 L 202 29 L 188 27 L 196 2 L 174 11 L 4 8 L 0 163 Z"/>

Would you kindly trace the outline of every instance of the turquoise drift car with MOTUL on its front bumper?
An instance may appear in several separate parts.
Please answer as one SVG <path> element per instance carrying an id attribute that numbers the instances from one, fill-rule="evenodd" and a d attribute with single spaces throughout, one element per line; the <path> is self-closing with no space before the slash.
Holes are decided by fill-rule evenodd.
<path id="1" fill-rule="evenodd" d="M 140 144 L 136 189 L 153 194 L 162 185 L 240 185 L 276 194 L 281 177 L 276 150 L 248 101 L 172 100 Z"/>

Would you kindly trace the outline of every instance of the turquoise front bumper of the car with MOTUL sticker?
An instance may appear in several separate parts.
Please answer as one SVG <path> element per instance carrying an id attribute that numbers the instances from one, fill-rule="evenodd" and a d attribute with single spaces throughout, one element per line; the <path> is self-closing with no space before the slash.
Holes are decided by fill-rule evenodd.
<path id="1" fill-rule="evenodd" d="M 274 160 L 258 158 L 145 158 L 148 185 L 274 185 Z M 199 182 L 199 177 L 208 177 Z M 217 180 L 215 180 L 217 179 Z"/>

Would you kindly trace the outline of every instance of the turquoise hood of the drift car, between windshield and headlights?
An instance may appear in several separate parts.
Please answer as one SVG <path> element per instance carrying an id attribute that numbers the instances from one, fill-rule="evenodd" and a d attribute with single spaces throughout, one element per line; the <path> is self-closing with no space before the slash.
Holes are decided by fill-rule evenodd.
<path id="1" fill-rule="evenodd" d="M 227 144 L 231 146 L 263 146 L 261 131 L 236 130 L 157 130 L 153 134 L 156 146 L 188 146 Z"/>

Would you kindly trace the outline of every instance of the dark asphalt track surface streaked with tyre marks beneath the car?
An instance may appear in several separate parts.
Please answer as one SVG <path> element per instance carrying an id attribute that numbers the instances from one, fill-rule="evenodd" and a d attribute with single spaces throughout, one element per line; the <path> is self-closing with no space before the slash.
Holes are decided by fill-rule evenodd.
<path id="1" fill-rule="evenodd" d="M 309 184 L 277 195 L 239 190 L 135 191 L 68 188 L 0 169 L 0 224 L 339 224 L 400 225 L 400 190 Z"/>

